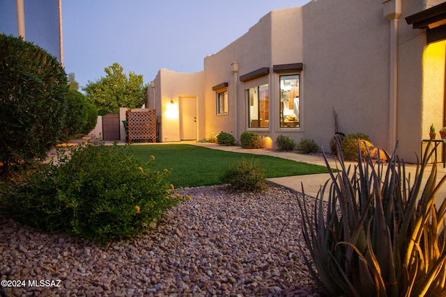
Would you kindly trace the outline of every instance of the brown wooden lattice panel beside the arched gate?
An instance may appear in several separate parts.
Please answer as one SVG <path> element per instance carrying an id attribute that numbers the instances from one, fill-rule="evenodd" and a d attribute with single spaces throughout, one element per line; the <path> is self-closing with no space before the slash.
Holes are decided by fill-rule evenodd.
<path id="1" fill-rule="evenodd" d="M 126 111 L 127 141 L 156 142 L 156 111 Z"/>

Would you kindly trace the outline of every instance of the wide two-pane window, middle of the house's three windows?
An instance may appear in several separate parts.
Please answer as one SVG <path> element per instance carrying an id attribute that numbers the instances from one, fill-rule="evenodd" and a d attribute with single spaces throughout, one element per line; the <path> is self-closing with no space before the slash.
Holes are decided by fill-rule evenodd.
<path id="1" fill-rule="evenodd" d="M 268 84 L 245 90 L 249 128 L 270 127 L 270 95 Z"/>

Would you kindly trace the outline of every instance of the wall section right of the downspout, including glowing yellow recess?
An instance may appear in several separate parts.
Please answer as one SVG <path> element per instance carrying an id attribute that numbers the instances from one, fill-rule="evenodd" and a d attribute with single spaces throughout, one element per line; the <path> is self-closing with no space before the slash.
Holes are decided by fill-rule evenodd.
<path id="1" fill-rule="evenodd" d="M 443 1 L 404 2 L 399 22 L 398 46 L 398 125 L 399 155 L 416 162 L 420 142 L 429 139 L 429 127 L 438 131 L 444 122 L 446 42 L 426 45 L 426 32 L 413 29 L 405 17 L 436 6 Z"/>

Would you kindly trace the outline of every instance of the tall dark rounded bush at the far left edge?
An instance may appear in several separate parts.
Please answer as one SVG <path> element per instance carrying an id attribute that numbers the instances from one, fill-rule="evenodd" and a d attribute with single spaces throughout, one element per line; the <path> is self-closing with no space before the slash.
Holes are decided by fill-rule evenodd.
<path id="1" fill-rule="evenodd" d="M 0 34 L 0 162 L 45 158 L 62 138 L 66 73 L 54 56 L 22 38 Z"/>

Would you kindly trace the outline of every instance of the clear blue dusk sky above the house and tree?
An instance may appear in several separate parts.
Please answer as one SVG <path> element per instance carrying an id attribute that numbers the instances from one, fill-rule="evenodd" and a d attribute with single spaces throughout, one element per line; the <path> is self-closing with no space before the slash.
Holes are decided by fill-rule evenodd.
<path id="1" fill-rule="evenodd" d="M 80 88 L 119 63 L 144 83 L 158 70 L 203 70 L 203 58 L 247 33 L 271 10 L 311 0 L 64 0 L 63 63 Z M 315 0 L 316 1 L 316 0 Z"/>

